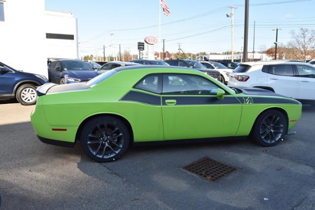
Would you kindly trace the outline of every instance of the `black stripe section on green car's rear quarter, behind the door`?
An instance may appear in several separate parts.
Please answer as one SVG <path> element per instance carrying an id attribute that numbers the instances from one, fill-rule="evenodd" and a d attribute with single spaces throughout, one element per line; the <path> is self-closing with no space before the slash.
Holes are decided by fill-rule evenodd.
<path id="1" fill-rule="evenodd" d="M 129 91 L 119 101 L 140 102 L 148 105 L 161 105 L 161 97 L 138 91 Z"/>

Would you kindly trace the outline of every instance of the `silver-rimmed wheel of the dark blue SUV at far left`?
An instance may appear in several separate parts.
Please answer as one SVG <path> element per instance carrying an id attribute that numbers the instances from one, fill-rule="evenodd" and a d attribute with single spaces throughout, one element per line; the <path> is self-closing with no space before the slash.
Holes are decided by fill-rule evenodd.
<path id="1" fill-rule="evenodd" d="M 21 105 L 34 105 L 37 101 L 36 87 L 32 84 L 22 84 L 15 97 Z"/>

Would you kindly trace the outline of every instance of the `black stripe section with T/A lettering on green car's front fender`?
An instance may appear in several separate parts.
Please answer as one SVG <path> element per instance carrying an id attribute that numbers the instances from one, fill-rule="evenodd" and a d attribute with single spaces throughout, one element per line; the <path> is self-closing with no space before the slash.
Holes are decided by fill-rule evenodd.
<path id="1" fill-rule="evenodd" d="M 299 104 L 298 101 L 286 98 L 238 97 L 242 104 Z"/>

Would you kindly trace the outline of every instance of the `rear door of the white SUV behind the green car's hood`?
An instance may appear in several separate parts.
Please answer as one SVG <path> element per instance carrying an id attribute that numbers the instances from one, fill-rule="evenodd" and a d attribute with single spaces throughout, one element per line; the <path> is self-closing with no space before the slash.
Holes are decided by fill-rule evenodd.
<path id="1" fill-rule="evenodd" d="M 269 65 L 267 86 L 274 89 L 275 93 L 296 99 L 299 91 L 299 81 L 295 77 L 293 65 Z"/>

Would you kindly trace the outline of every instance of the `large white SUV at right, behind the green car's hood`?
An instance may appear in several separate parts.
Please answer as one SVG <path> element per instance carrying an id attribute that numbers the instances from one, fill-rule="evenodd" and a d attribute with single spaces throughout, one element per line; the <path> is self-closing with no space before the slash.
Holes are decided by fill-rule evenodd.
<path id="1" fill-rule="evenodd" d="M 315 103 L 315 67 L 293 61 L 242 63 L 230 74 L 228 86 L 259 87 Z"/>

